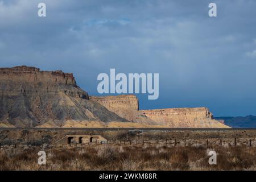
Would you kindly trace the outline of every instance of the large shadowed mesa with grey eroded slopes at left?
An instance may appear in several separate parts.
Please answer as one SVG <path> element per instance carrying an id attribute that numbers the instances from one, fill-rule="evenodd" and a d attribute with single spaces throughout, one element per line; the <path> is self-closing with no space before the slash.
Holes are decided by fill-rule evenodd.
<path id="1" fill-rule="evenodd" d="M 0 121 L 16 127 L 66 121 L 127 122 L 104 106 L 88 100 L 72 73 L 34 67 L 0 68 Z"/>

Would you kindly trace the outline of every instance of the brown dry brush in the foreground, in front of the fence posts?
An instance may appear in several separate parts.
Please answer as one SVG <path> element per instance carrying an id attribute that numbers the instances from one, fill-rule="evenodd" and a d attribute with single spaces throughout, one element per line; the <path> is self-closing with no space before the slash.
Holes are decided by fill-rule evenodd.
<path id="1" fill-rule="evenodd" d="M 1 148 L 0 170 L 255 170 L 255 147 L 120 146 L 102 144 L 48 148 L 47 164 L 38 164 L 40 147 Z M 208 150 L 217 152 L 209 165 Z"/>

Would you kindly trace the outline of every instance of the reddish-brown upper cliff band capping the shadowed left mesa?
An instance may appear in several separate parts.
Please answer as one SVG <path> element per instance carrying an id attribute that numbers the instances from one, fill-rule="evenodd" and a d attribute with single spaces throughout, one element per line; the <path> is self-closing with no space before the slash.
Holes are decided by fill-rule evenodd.
<path id="1" fill-rule="evenodd" d="M 65 92 L 72 97 L 85 98 L 88 93 L 76 85 L 72 73 L 40 71 L 35 67 L 0 68 L 0 92 L 2 94 L 57 94 Z"/>

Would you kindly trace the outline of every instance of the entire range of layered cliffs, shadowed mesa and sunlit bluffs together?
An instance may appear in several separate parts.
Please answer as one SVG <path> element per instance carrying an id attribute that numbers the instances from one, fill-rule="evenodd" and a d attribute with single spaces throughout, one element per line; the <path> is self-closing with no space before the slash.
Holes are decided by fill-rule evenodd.
<path id="1" fill-rule="evenodd" d="M 96 97 L 72 73 L 0 68 L 0 127 L 227 127 L 205 107 L 139 110 L 134 95 Z"/>

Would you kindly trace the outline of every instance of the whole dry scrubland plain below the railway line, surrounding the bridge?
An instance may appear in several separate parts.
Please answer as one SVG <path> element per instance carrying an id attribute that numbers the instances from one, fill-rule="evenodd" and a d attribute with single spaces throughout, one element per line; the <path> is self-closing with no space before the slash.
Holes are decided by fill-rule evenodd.
<path id="1" fill-rule="evenodd" d="M 1 130 L 0 170 L 256 170 L 255 131 L 102 131 L 108 143 L 51 145 L 70 133 L 85 132 Z"/>

